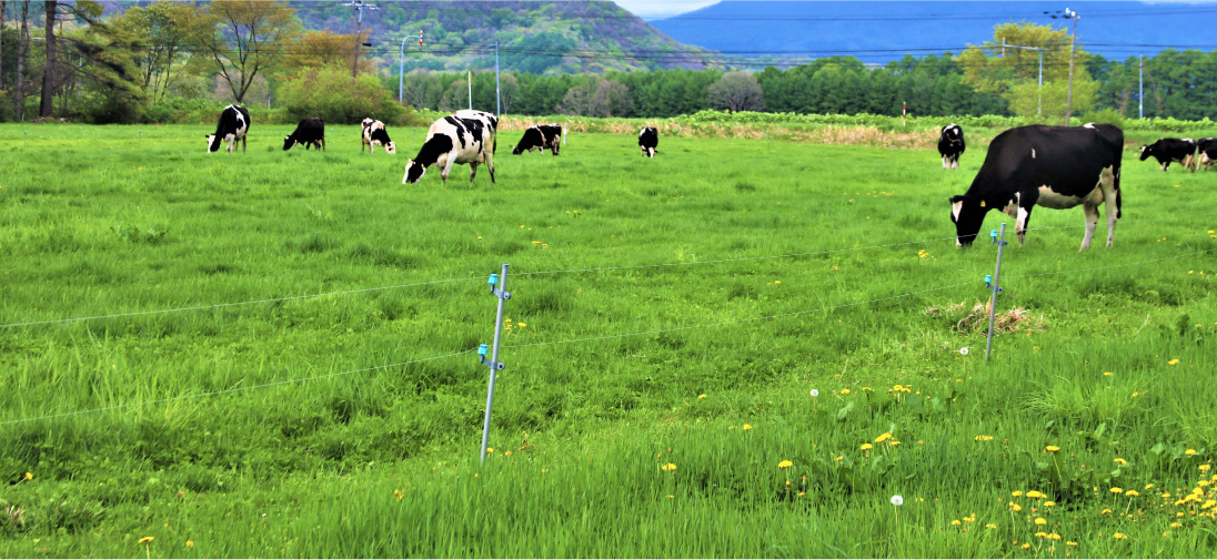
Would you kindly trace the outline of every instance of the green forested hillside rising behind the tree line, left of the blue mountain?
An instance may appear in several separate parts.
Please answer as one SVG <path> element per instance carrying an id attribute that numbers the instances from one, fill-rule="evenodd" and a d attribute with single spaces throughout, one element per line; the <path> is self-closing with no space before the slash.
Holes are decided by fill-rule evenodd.
<path id="1" fill-rule="evenodd" d="M 305 28 L 355 32 L 357 12 L 342 2 L 290 4 Z M 394 70 L 402 39 L 420 28 L 424 46 L 406 41 L 406 72 L 493 68 L 495 41 L 503 69 L 535 74 L 713 66 L 702 49 L 675 41 L 611 1 L 369 4 L 377 7 L 363 13 L 370 52 Z"/>

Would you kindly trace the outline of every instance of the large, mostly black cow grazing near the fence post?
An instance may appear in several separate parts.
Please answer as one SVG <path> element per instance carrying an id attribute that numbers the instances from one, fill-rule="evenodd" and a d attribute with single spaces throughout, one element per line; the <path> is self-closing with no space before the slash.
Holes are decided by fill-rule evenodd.
<path id="1" fill-rule="evenodd" d="M 1125 132 L 1110 124 L 1084 126 L 1020 126 L 999 134 L 966 194 L 950 198 L 955 244 L 970 245 L 989 210 L 1016 219 L 1019 243 L 1026 241 L 1031 208 L 1065 209 L 1082 205 L 1090 247 L 1106 204 L 1107 247 L 1120 217 L 1120 164 Z"/>

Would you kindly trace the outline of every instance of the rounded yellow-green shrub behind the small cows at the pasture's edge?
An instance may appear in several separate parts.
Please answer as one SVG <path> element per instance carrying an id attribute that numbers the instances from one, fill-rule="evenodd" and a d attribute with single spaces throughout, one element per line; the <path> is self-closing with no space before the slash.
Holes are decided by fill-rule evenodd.
<path id="1" fill-rule="evenodd" d="M 409 111 L 393 98 L 376 77 L 352 78 L 346 68 L 329 66 L 301 70 L 280 87 L 288 121 L 320 117 L 326 123 L 359 123 L 372 117 L 389 124 L 404 124 Z"/>

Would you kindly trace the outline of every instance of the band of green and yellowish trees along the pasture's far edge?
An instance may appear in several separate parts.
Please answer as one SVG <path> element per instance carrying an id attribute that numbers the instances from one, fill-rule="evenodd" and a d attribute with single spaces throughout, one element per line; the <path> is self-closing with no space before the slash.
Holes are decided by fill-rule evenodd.
<path id="1" fill-rule="evenodd" d="M 408 109 L 667 118 L 702 109 L 921 117 L 1065 114 L 1070 41 L 1048 26 L 1006 23 L 954 55 L 884 66 L 848 56 L 759 72 L 657 69 L 598 74 L 416 69 L 404 77 L 361 50 L 366 36 L 303 29 L 284 1 L 172 1 L 101 17 L 101 5 L 0 0 L 2 120 L 174 121 L 217 103 L 260 104 L 281 120 L 357 121 Z M 1002 51 L 1002 44 L 1036 50 Z M 1043 84 L 1039 61 L 1043 57 Z M 1075 114 L 1217 119 L 1217 51 L 1162 51 L 1144 61 L 1078 49 Z M 1144 73 L 1144 96 L 1138 77 Z M 399 87 L 400 80 L 400 87 Z M 498 96 L 495 95 L 498 90 Z M 397 97 L 400 96 L 402 103 Z M 191 113 L 194 111 L 194 113 Z"/>

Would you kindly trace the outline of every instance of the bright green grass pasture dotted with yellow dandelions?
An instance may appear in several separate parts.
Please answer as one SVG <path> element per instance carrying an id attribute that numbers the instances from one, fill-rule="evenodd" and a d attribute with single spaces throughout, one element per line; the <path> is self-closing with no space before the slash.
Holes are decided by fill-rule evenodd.
<path id="1" fill-rule="evenodd" d="M 425 130 L 335 129 L 0 126 L 0 556 L 1217 550 L 1215 172 L 1126 152 L 1111 249 L 1038 209 L 986 362 L 983 146 L 504 131 L 403 186 Z"/>

